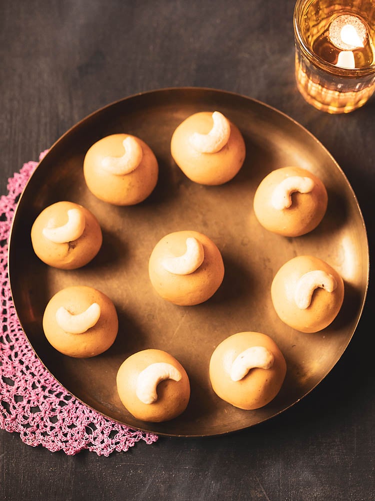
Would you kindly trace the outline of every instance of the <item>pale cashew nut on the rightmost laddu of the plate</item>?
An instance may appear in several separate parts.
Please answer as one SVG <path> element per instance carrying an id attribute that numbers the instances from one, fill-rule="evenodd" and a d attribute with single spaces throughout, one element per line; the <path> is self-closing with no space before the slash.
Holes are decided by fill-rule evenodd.
<path id="1" fill-rule="evenodd" d="M 298 280 L 294 292 L 294 301 L 300 310 L 305 310 L 310 306 L 312 294 L 318 287 L 327 292 L 333 292 L 337 287 L 337 282 L 330 273 L 322 270 L 307 272 Z"/>

